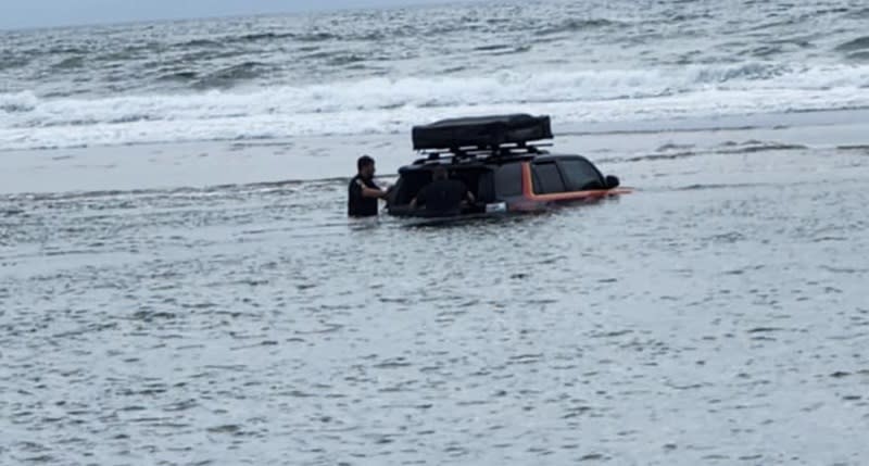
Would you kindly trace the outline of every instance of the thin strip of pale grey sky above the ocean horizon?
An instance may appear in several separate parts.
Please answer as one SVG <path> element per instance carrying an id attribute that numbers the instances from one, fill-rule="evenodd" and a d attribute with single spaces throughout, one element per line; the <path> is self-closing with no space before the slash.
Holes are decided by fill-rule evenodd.
<path id="1" fill-rule="evenodd" d="M 425 3 L 443 0 L 0 0 L 0 29 Z"/>

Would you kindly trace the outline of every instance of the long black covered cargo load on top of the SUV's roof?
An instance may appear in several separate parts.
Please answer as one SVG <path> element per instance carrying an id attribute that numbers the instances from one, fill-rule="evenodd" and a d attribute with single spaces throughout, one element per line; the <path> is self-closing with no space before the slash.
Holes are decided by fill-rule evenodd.
<path id="1" fill-rule="evenodd" d="M 545 115 L 451 118 L 413 128 L 415 150 L 448 150 L 456 155 L 475 151 L 494 154 L 502 148 L 521 150 L 528 142 L 552 138 L 552 125 Z"/>

